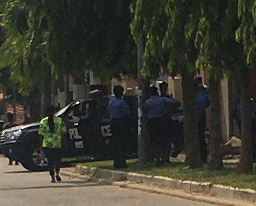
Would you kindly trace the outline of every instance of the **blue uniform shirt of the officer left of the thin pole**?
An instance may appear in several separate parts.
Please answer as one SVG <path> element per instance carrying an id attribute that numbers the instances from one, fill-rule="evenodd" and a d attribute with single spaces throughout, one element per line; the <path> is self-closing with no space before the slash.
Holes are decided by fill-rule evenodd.
<path id="1" fill-rule="evenodd" d="M 130 113 L 129 106 L 123 98 L 112 98 L 108 103 L 108 109 L 112 119 L 124 119 Z"/>

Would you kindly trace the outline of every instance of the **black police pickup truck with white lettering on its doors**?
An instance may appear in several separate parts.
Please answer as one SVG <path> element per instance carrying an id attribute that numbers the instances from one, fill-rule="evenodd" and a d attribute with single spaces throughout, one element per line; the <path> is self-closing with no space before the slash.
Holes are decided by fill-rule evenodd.
<path id="1" fill-rule="evenodd" d="M 94 160 L 110 159 L 112 156 L 110 114 L 107 111 L 108 98 L 78 100 L 68 104 L 55 115 L 62 117 L 66 124 L 66 148 L 64 158 L 90 156 Z M 127 97 L 127 102 L 136 108 L 136 98 Z M 130 136 L 127 139 L 127 153 L 136 155 L 137 110 L 130 117 Z M 3 130 L 0 136 L 0 149 L 8 158 L 20 162 L 29 171 L 47 169 L 47 158 L 38 150 L 39 123 L 17 126 Z"/>

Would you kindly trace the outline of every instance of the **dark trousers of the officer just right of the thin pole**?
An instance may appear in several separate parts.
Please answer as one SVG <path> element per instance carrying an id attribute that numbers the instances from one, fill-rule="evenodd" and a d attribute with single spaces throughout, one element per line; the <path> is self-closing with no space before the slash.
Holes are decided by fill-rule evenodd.
<path id="1" fill-rule="evenodd" d="M 168 138 L 166 138 L 164 118 L 149 119 L 149 136 L 151 148 L 154 153 L 154 158 L 158 161 L 166 159 L 166 145 L 168 146 Z"/>

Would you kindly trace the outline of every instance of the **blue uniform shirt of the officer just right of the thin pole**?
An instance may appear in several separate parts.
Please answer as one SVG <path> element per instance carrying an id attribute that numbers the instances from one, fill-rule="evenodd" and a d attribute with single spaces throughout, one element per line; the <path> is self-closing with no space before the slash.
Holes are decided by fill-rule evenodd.
<path id="1" fill-rule="evenodd" d="M 164 117 L 166 110 L 170 108 L 171 104 L 175 100 L 170 98 L 162 98 L 159 96 L 151 96 L 149 100 L 146 100 L 146 111 L 148 113 L 148 118 L 159 118 Z"/>

